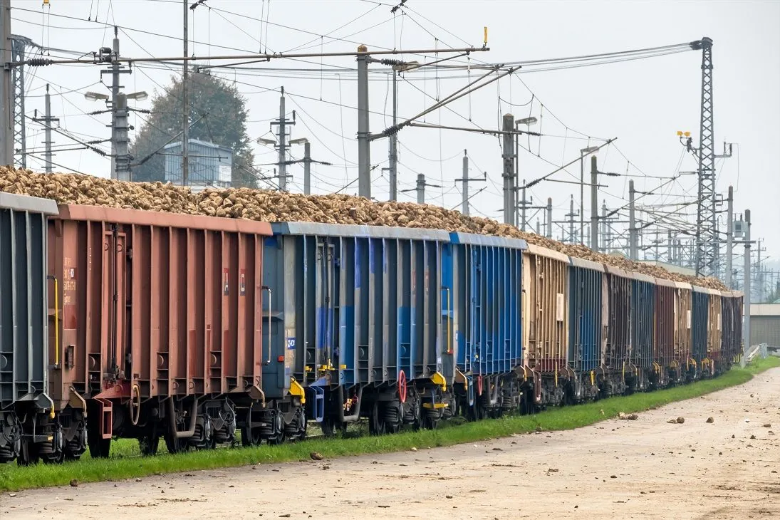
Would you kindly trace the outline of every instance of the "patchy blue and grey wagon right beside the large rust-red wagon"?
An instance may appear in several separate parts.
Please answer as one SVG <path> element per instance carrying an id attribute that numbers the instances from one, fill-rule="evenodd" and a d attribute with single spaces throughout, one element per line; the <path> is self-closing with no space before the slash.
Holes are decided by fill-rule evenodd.
<path id="1" fill-rule="evenodd" d="M 271 228 L 264 263 L 271 364 L 258 415 L 273 430 L 263 437 L 303 433 L 296 417 L 304 408 L 326 433 L 360 417 L 383 433 L 403 423 L 434 427 L 451 414 L 452 292 L 441 272 L 449 233 L 303 222 Z"/>

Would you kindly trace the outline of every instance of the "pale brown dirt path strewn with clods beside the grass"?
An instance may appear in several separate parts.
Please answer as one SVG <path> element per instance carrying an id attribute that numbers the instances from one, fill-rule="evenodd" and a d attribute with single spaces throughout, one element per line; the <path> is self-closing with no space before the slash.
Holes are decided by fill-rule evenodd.
<path id="1" fill-rule="evenodd" d="M 677 416 L 685 423 L 667 423 Z M 714 423 L 705 422 L 708 416 Z M 780 518 L 780 369 L 636 421 L 0 496 L 4 519 L 41 515 Z"/>

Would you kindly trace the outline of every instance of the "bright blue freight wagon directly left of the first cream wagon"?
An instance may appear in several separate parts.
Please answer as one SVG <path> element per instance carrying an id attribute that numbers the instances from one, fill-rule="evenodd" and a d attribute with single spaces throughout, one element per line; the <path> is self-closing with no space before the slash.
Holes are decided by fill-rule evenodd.
<path id="1" fill-rule="evenodd" d="M 443 288 L 452 295 L 457 359 L 452 375 L 459 406 L 471 419 L 519 409 L 525 249 L 525 240 L 459 232 L 444 247 Z"/>

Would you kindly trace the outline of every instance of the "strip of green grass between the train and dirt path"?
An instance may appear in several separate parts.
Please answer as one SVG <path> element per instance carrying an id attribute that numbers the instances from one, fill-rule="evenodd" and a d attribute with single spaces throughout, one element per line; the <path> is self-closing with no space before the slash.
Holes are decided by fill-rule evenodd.
<path id="1" fill-rule="evenodd" d="M 309 460 L 311 451 L 326 458 L 344 455 L 366 455 L 408 450 L 411 447 L 436 447 L 461 444 L 488 438 L 505 437 L 512 433 L 526 433 L 537 427 L 542 430 L 571 430 L 611 419 L 619 412 L 641 412 L 746 383 L 753 375 L 775 366 L 780 358 L 757 359 L 745 369 L 730 370 L 721 377 L 703 380 L 683 387 L 668 388 L 625 397 L 608 398 L 594 403 L 551 409 L 534 416 L 510 416 L 486 419 L 477 423 L 450 421 L 438 430 L 402 432 L 382 437 L 355 436 L 313 438 L 300 443 L 281 446 L 236 447 L 207 451 L 193 451 L 179 455 L 139 457 L 134 440 L 113 443 L 112 457 L 92 459 L 85 454 L 79 462 L 62 465 L 35 465 L 20 468 L 15 463 L 0 466 L 0 490 L 22 490 L 47 486 L 62 486 L 71 479 L 80 483 L 103 480 L 121 480 L 169 472 L 215 469 L 268 462 Z M 603 414 L 602 414 L 603 410 Z M 161 452 L 165 443 L 160 444 Z"/>

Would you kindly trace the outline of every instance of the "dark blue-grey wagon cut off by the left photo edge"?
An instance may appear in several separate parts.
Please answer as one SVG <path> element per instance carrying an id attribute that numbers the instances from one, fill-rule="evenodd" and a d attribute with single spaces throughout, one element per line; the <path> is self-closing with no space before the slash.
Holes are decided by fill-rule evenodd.
<path id="1" fill-rule="evenodd" d="M 57 213 L 54 200 L 0 193 L 0 462 L 35 458 L 24 452 L 40 440 L 34 425 L 55 420 L 46 261 L 47 219 Z"/>

